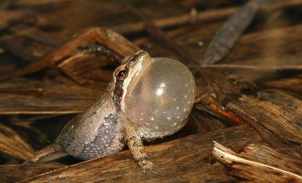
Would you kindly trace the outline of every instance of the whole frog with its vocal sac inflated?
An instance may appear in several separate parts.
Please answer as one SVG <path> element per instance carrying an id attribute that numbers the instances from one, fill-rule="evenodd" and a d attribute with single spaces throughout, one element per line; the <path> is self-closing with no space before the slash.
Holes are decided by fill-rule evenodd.
<path id="1" fill-rule="evenodd" d="M 139 50 L 123 58 L 104 94 L 62 128 L 52 145 L 24 163 L 48 162 L 65 155 L 81 160 L 115 154 L 128 145 L 143 174 L 158 174 L 143 141 L 178 132 L 195 99 L 191 71 L 170 58 Z"/>

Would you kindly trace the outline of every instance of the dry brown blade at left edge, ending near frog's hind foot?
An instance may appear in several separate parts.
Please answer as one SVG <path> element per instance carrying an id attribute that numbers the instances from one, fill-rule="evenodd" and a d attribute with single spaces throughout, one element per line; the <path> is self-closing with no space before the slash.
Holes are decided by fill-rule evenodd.
<path id="1" fill-rule="evenodd" d="M 16 158 L 27 160 L 33 156 L 33 148 L 9 126 L 0 123 L 0 151 Z"/>

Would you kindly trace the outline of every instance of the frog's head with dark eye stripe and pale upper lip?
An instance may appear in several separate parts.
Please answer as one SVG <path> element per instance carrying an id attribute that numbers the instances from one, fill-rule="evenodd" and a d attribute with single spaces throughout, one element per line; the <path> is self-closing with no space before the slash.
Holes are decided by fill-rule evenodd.
<path id="1" fill-rule="evenodd" d="M 151 59 L 146 51 L 137 51 L 134 55 L 125 57 L 121 65 L 113 72 L 113 101 L 115 106 L 120 110 L 127 89 L 131 83 L 135 83 L 137 78 L 141 76 L 142 68 L 147 67 L 148 61 Z"/>

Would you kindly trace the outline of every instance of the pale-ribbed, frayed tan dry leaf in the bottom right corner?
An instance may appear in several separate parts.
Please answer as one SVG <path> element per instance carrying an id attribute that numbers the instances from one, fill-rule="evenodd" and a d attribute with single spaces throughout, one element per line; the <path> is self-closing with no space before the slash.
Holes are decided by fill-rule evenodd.
<path id="1" fill-rule="evenodd" d="M 231 167 L 230 173 L 256 182 L 301 182 L 302 161 L 261 145 L 236 153 L 214 141 L 213 156 Z"/>

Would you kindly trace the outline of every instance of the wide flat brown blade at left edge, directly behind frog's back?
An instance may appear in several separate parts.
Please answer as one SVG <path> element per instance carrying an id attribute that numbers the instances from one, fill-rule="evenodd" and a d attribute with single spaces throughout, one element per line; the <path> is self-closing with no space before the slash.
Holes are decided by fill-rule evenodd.
<path id="1" fill-rule="evenodd" d="M 55 79 L 13 79 L 0 86 L 0 114 L 81 113 L 107 85 L 80 86 L 59 74 Z"/>

